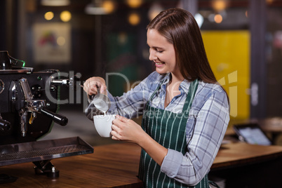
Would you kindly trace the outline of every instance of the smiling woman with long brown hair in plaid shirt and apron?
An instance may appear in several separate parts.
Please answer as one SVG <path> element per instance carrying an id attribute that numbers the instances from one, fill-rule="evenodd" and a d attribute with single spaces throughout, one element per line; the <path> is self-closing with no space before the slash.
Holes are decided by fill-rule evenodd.
<path id="1" fill-rule="evenodd" d="M 208 187 L 208 172 L 229 123 L 229 102 L 217 84 L 193 16 L 180 8 L 161 12 L 147 26 L 149 60 L 156 71 L 113 97 L 112 139 L 142 147 L 139 177 L 145 187 Z M 105 80 L 84 83 L 88 95 Z M 142 113 L 142 127 L 128 119 Z"/>

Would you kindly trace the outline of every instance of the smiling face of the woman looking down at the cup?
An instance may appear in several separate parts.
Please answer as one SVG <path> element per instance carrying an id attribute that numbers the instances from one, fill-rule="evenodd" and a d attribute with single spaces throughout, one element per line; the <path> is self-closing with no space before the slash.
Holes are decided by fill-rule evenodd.
<path id="1" fill-rule="evenodd" d="M 156 72 L 166 74 L 180 74 L 176 65 L 175 49 L 172 43 L 159 34 L 156 29 L 148 29 L 147 44 L 149 46 L 149 60 L 154 61 Z"/>

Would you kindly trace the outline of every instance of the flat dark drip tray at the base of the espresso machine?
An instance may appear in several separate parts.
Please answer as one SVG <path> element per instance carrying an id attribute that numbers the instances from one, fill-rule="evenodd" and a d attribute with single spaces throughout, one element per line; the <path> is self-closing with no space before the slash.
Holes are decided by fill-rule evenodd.
<path id="1" fill-rule="evenodd" d="M 0 166 L 91 154 L 93 147 L 80 137 L 0 145 Z"/>

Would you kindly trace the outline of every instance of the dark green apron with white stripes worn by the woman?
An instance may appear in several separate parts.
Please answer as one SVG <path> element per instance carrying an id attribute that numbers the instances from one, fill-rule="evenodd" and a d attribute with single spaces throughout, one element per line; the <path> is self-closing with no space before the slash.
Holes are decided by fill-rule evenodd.
<path id="1" fill-rule="evenodd" d="M 187 152 L 185 133 L 187 119 L 198 84 L 197 80 L 191 83 L 182 113 L 175 114 L 149 105 L 149 101 L 152 100 L 161 85 L 154 91 L 143 113 L 143 130 L 163 147 L 182 152 L 183 155 Z M 162 173 L 161 166 L 159 166 L 144 149 L 141 151 L 139 177 L 140 180 L 144 182 L 144 187 L 188 187 L 186 184 L 177 182 L 168 177 L 165 173 Z M 206 175 L 203 180 L 194 187 L 209 187 L 208 176 Z"/>

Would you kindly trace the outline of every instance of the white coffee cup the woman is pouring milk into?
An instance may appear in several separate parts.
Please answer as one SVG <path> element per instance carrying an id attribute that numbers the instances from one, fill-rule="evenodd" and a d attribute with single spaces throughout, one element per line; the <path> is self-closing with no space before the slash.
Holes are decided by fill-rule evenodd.
<path id="1" fill-rule="evenodd" d="M 101 137 L 111 137 L 112 121 L 116 115 L 98 115 L 93 116 L 94 126 Z"/>

